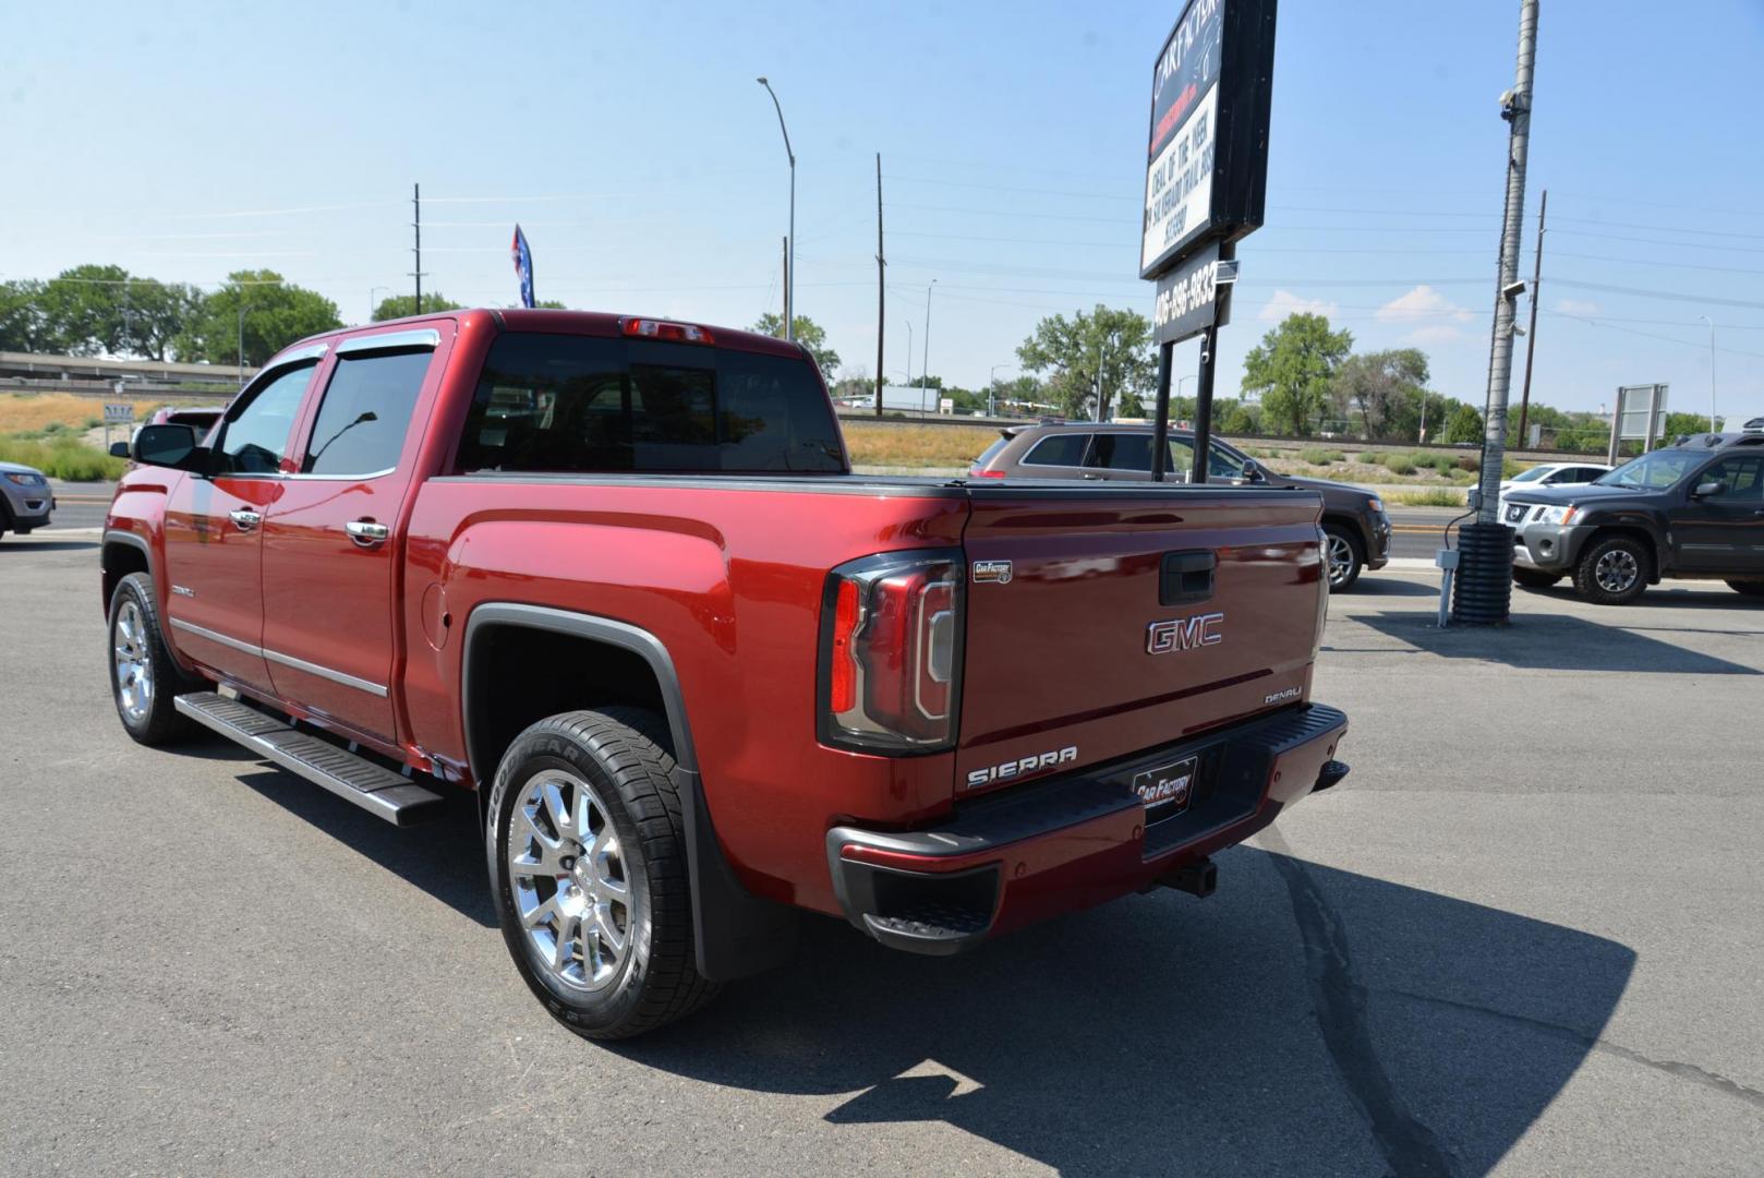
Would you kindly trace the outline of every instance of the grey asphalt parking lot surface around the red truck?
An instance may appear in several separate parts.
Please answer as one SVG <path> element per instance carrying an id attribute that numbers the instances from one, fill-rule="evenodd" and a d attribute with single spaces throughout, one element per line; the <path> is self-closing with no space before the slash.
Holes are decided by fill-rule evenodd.
<path id="1" fill-rule="evenodd" d="M 132 745 L 95 539 L 0 542 L 0 1171 L 1757 1174 L 1764 608 L 1330 606 L 1353 775 L 1132 897 L 792 970 L 602 1047 L 508 964 L 475 818 Z"/>

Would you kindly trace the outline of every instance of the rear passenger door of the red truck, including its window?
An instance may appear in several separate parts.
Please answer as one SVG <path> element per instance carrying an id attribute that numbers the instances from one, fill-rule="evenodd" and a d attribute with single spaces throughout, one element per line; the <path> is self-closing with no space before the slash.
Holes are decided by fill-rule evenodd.
<path id="1" fill-rule="evenodd" d="M 399 514 L 423 390 L 443 332 L 406 328 L 337 346 L 300 468 L 263 521 L 263 652 L 275 694 L 393 744 Z M 434 367 L 434 378 L 430 378 Z"/>

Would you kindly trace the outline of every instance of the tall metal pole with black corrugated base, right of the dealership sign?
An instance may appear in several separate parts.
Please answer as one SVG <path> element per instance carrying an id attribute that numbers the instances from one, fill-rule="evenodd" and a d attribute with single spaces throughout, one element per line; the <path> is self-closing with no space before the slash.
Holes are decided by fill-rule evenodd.
<path id="1" fill-rule="evenodd" d="M 1506 397 L 1514 378 L 1515 300 L 1519 281 L 1519 235 L 1526 215 L 1526 154 L 1531 145 L 1531 76 L 1536 64 L 1538 0 L 1519 9 L 1519 62 L 1514 88 L 1501 95 L 1501 118 L 1508 122 L 1506 207 L 1501 217 L 1501 263 L 1494 284 L 1494 330 L 1489 343 L 1489 399 L 1482 436 L 1482 482 L 1476 523 L 1459 530 L 1459 576 L 1452 616 L 1471 625 L 1506 622 L 1514 597 L 1512 530 L 1499 512 L 1501 464 L 1506 457 Z"/>

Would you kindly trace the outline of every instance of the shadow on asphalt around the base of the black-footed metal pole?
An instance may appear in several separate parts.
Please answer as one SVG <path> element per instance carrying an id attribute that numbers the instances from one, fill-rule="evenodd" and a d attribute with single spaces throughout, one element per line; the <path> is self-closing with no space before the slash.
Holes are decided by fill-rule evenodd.
<path id="1" fill-rule="evenodd" d="M 1651 675 L 1759 675 L 1621 625 L 1561 613 L 1515 613 L 1510 625 L 1446 627 L 1422 613 L 1364 613 L 1351 618 L 1441 659 L 1478 659 L 1526 671 L 1626 671 Z"/>

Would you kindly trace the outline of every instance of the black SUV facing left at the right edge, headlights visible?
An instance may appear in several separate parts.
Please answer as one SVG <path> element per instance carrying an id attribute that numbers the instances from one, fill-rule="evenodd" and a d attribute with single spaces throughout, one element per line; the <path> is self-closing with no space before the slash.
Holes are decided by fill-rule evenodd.
<path id="1" fill-rule="evenodd" d="M 1681 436 L 1584 486 L 1514 489 L 1514 581 L 1565 576 L 1621 606 L 1660 578 L 1727 581 L 1764 599 L 1764 434 Z"/>

